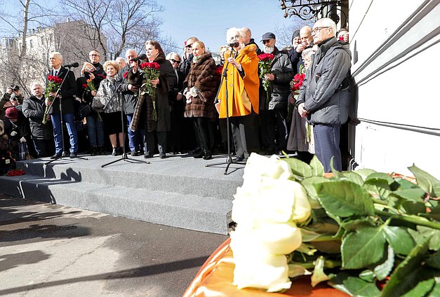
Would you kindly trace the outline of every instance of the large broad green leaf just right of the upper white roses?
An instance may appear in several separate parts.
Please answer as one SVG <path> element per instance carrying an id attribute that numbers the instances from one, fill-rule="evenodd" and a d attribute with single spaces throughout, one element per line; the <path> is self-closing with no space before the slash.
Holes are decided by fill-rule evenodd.
<path id="1" fill-rule="evenodd" d="M 371 195 L 351 181 L 331 181 L 315 184 L 319 202 L 333 216 L 369 216 L 374 214 Z"/>

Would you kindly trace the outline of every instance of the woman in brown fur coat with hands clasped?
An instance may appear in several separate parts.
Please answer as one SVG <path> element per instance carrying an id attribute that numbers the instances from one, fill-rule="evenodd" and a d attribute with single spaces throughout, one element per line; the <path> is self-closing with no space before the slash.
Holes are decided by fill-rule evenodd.
<path id="1" fill-rule="evenodd" d="M 217 90 L 215 71 L 217 66 L 211 56 L 206 53 L 205 44 L 202 41 L 192 43 L 191 69 L 183 86 L 187 105 L 185 106 L 185 118 L 193 118 L 197 135 L 200 139 L 201 151 L 194 158 L 210 160 L 211 144 L 208 134 L 208 120 L 215 118 L 214 97 Z"/>

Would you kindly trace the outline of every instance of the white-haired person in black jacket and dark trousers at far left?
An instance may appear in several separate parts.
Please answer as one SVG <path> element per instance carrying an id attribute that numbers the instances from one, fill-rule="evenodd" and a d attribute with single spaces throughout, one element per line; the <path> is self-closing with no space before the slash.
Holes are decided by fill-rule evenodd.
<path id="1" fill-rule="evenodd" d="M 46 124 L 41 123 L 46 104 L 43 87 L 39 83 L 32 83 L 32 96 L 23 101 L 22 113 L 29 119 L 31 138 L 34 141 L 36 158 L 51 156 L 53 153 L 53 128 L 51 116 L 47 115 Z"/>

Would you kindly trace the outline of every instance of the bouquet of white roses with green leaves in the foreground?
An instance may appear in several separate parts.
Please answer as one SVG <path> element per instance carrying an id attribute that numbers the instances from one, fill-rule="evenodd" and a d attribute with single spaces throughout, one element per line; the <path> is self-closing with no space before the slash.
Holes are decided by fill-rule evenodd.
<path id="1" fill-rule="evenodd" d="M 417 184 L 253 153 L 232 208 L 234 284 L 275 292 L 311 275 L 351 296 L 437 296 L 440 181 L 408 169 Z"/>

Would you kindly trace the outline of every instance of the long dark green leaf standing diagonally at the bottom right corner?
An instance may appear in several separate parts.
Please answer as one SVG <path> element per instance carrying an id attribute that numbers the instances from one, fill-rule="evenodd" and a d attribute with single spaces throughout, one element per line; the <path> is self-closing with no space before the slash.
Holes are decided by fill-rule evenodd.
<path id="1" fill-rule="evenodd" d="M 382 297 L 402 296 L 418 284 L 418 270 L 424 261 L 428 249 L 428 240 L 416 245 L 406 256 L 405 260 L 397 265 L 389 278 L 387 285 L 382 290 Z"/>

